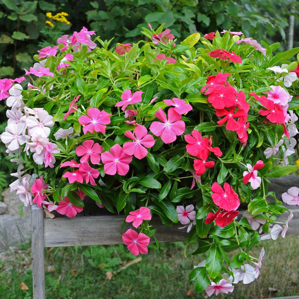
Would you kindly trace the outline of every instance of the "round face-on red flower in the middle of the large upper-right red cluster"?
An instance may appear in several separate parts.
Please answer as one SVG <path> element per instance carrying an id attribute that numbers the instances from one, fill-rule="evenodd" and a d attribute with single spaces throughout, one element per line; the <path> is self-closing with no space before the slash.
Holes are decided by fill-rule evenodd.
<path id="1" fill-rule="evenodd" d="M 208 102 L 215 109 L 234 106 L 236 103 L 236 90 L 231 86 L 217 85 L 208 96 Z"/>

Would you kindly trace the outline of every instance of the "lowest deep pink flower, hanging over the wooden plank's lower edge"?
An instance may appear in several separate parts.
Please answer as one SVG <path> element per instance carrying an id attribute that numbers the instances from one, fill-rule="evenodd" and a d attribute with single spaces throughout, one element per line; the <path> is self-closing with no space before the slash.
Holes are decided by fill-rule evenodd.
<path id="1" fill-rule="evenodd" d="M 130 252 L 133 255 L 139 253 L 147 254 L 147 245 L 149 245 L 149 237 L 146 234 L 138 234 L 131 228 L 128 229 L 122 236 L 123 242 L 128 246 Z"/>

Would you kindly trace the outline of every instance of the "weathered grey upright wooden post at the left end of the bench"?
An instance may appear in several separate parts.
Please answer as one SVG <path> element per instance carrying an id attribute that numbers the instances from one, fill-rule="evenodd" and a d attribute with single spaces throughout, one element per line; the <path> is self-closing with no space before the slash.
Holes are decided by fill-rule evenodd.
<path id="1" fill-rule="evenodd" d="M 31 206 L 33 299 L 45 299 L 44 211 Z"/>

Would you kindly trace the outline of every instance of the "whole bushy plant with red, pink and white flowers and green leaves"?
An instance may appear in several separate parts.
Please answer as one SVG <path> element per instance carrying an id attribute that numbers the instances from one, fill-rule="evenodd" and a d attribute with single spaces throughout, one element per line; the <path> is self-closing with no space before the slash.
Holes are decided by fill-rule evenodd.
<path id="1" fill-rule="evenodd" d="M 299 49 L 274 56 L 277 44 L 225 30 L 178 45 L 169 29 L 149 27 L 151 42 L 109 50 L 83 27 L 34 56 L 27 89 L 24 77 L 0 80 L 10 107 L 1 140 L 19 163 L 10 187 L 25 209 L 37 203 L 72 217 L 88 196 L 124 211 L 133 228 L 123 242 L 134 255 L 147 254 L 150 237 L 158 245 L 152 214 L 181 222 L 187 245 L 198 242 L 193 254 L 208 252 L 190 274 L 196 290 L 232 292 L 260 273 L 264 251 L 252 257 L 251 248 L 284 237 L 292 219 L 275 223 L 288 209 L 267 183 L 297 169 L 287 157 L 299 104 L 286 87 L 297 86 L 297 62 L 287 59 Z M 286 202 L 298 204 L 297 189 Z"/>

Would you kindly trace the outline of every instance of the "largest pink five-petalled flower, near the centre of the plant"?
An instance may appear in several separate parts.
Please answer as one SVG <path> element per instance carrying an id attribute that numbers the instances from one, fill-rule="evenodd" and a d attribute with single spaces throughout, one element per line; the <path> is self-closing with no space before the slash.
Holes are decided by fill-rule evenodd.
<path id="1" fill-rule="evenodd" d="M 155 117 L 162 121 L 153 121 L 149 127 L 150 131 L 155 136 L 161 136 L 165 143 L 172 143 L 176 141 L 176 136 L 182 135 L 185 131 L 185 123 L 181 120 L 181 115 L 177 113 L 174 108 L 168 109 L 168 119 L 166 114 L 160 108 Z"/>

